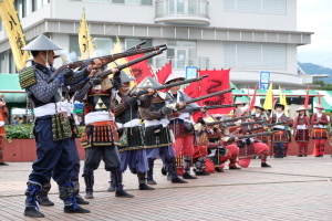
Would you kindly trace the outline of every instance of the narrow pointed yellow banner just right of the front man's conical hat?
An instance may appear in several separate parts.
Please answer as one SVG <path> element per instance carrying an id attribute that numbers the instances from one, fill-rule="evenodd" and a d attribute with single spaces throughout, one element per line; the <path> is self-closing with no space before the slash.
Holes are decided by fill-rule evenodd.
<path id="1" fill-rule="evenodd" d="M 96 57 L 96 51 L 89 31 L 89 25 L 85 19 L 85 11 L 82 12 L 81 27 L 79 29 L 79 45 L 81 51 L 80 60 Z"/>

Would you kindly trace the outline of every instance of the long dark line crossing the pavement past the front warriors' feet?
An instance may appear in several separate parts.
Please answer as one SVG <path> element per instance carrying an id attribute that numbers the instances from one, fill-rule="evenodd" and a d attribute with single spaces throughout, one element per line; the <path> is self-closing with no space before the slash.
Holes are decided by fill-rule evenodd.
<path id="1" fill-rule="evenodd" d="M 228 183 L 228 185 L 205 185 L 205 186 L 181 186 L 181 187 L 165 187 L 165 188 L 155 188 L 155 190 L 167 190 L 167 189 L 185 189 L 185 188 L 201 188 L 201 187 L 228 187 L 228 186 L 255 186 L 255 185 L 281 185 L 281 183 L 300 183 L 300 182 L 326 182 L 326 180 L 302 180 L 302 181 L 280 181 L 280 182 L 255 182 L 255 183 Z M 139 191 L 138 189 L 126 189 L 126 191 Z M 94 192 L 107 192 L 106 190 L 98 190 Z M 80 192 L 83 193 L 83 192 Z M 52 192 L 49 194 L 59 194 L 59 192 Z M 10 196 L 0 196 L 0 198 L 8 197 L 23 197 L 24 194 L 10 194 Z"/>

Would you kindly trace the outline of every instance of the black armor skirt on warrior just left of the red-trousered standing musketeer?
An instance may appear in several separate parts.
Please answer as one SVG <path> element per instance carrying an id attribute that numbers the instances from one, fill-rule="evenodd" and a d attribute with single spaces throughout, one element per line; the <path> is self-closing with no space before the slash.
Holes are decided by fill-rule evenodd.
<path id="1" fill-rule="evenodd" d="M 159 133 L 156 136 L 157 130 L 159 130 Z M 145 128 L 145 148 L 167 147 L 170 145 L 172 139 L 168 127 L 163 127 L 163 125 L 156 125 Z"/>

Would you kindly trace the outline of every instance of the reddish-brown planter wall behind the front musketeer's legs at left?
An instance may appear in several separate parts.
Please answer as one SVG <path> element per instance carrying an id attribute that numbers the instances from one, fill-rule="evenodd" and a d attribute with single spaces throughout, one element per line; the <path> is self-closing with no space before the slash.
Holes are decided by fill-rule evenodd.
<path id="1" fill-rule="evenodd" d="M 76 146 L 81 160 L 84 159 L 84 149 L 80 144 L 81 138 L 76 138 Z M 3 161 L 29 162 L 34 161 L 35 140 L 34 139 L 12 139 L 11 143 L 4 140 Z"/>

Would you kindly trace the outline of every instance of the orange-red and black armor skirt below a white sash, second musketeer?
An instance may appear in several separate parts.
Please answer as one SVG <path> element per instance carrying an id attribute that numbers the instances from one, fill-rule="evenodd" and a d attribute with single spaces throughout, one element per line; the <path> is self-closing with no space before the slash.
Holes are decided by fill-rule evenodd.
<path id="1" fill-rule="evenodd" d="M 83 148 L 118 145 L 117 127 L 114 122 L 96 122 L 84 127 L 81 144 Z"/>

